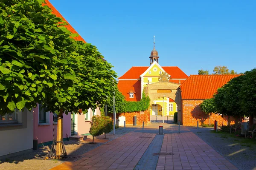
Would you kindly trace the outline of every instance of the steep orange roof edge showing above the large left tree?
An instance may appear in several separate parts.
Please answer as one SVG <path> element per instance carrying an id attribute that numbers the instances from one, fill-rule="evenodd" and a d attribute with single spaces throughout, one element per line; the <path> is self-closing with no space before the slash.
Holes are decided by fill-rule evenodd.
<path id="1" fill-rule="evenodd" d="M 49 2 L 49 0 L 45 0 L 46 5 L 52 9 L 52 14 L 55 14 L 57 17 L 61 17 L 68 25 L 64 26 L 66 27 L 70 32 L 73 34 L 78 34 L 78 32 L 65 20 L 65 18 L 59 13 L 59 11 Z M 42 6 L 45 4 L 43 3 Z M 78 34 L 79 35 L 79 34 Z M 84 41 L 84 39 L 79 35 L 78 37 L 74 37 L 77 41 Z M 86 43 L 86 42 L 85 42 Z"/>

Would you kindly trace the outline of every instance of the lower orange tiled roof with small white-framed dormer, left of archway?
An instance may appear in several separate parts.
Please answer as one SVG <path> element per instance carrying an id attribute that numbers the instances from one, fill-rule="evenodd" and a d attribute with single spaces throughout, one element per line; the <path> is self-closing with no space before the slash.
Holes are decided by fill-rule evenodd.
<path id="1" fill-rule="evenodd" d="M 127 101 L 140 101 L 141 81 L 140 80 L 119 80 L 117 87 Z M 134 91 L 134 98 L 130 98 L 129 92 Z"/>

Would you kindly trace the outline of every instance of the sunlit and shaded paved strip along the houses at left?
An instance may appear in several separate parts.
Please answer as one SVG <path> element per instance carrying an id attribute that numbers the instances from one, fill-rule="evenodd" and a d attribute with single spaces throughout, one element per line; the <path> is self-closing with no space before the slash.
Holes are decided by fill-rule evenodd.
<path id="1" fill-rule="evenodd" d="M 140 126 L 137 126 L 140 127 Z M 106 138 L 109 141 L 116 139 L 125 133 L 133 131 L 137 129 L 137 127 L 131 126 L 127 127 L 125 130 L 123 127 L 120 127 L 116 130 L 116 135 L 113 135 L 113 131 L 111 133 L 106 134 Z M 104 139 L 104 135 L 98 136 L 95 139 Z M 87 139 L 92 139 L 92 136 L 87 136 Z M 85 141 L 65 141 L 65 148 L 67 150 L 68 157 L 74 156 L 78 157 L 79 155 L 98 147 L 103 143 L 90 144 L 90 142 Z M 49 170 L 52 167 L 55 167 L 64 161 L 74 161 L 75 159 L 67 158 L 63 160 L 57 159 L 45 159 L 48 156 L 48 150 L 51 146 L 40 147 L 38 150 L 33 150 L 32 153 L 27 153 L 15 157 L 10 157 L 6 160 L 0 160 L 0 170 Z"/>

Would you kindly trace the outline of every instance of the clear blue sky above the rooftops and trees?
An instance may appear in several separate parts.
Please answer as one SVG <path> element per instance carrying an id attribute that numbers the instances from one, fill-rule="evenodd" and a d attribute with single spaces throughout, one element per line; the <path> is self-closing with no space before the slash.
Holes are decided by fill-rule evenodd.
<path id="1" fill-rule="evenodd" d="M 149 66 L 155 35 L 161 66 L 188 76 L 216 65 L 256 67 L 255 0 L 50 0 L 118 76 Z"/>

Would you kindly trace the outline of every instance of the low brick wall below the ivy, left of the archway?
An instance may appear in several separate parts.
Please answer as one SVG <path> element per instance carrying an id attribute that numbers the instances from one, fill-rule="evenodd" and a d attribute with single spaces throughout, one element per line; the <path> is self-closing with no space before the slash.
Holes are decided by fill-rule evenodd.
<path id="1" fill-rule="evenodd" d="M 108 115 L 113 119 L 113 114 Z M 126 125 L 134 125 L 134 116 L 137 116 L 137 125 L 142 125 L 143 121 L 145 125 L 150 123 L 150 113 L 149 111 L 144 112 L 131 112 L 131 113 L 116 113 L 116 119 L 119 116 L 125 116 L 125 124 Z"/>

